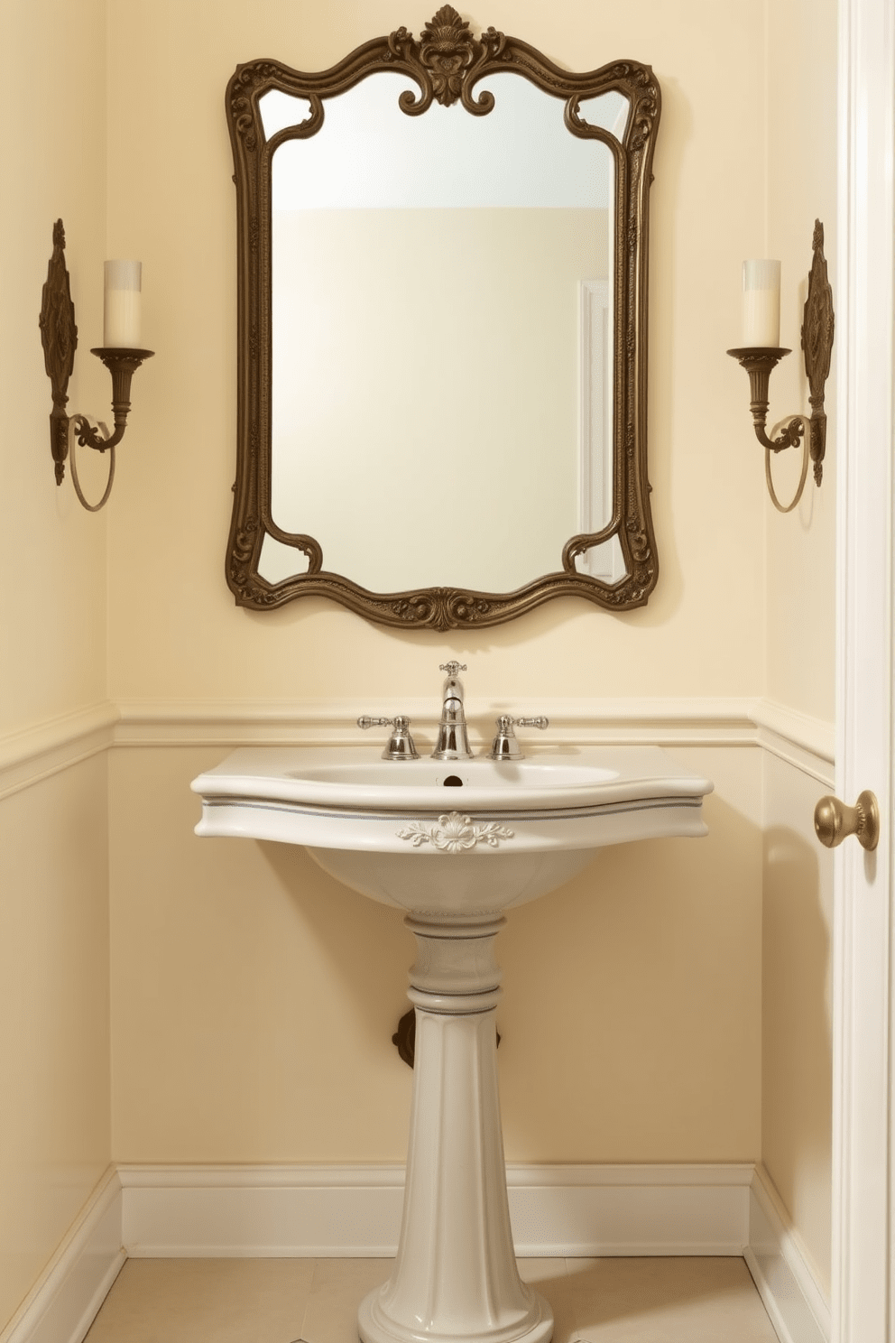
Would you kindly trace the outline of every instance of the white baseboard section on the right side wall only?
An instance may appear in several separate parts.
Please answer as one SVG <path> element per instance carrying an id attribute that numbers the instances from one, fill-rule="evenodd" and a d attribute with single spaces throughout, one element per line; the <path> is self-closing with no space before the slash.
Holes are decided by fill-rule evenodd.
<path id="1" fill-rule="evenodd" d="M 762 1166 L 751 1182 L 745 1257 L 781 1343 L 828 1343 L 829 1303 Z"/>

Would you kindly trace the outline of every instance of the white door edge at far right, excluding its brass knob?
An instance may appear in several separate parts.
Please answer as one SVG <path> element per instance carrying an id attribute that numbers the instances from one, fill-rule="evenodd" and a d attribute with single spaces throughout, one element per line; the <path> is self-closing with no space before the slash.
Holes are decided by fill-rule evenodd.
<path id="1" fill-rule="evenodd" d="M 835 866 L 832 1338 L 891 1343 L 892 0 L 840 0 L 839 47 L 836 779 L 882 837 Z"/>

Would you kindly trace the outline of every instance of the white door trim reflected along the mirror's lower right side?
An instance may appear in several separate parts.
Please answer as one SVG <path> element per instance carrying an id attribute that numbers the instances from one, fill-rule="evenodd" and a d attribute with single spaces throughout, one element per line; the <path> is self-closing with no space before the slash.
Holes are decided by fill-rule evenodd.
<path id="1" fill-rule="evenodd" d="M 608 279 L 581 281 L 578 369 L 578 529 L 600 532 L 612 517 L 612 312 Z M 625 575 L 617 537 L 578 556 L 576 568 L 604 583 Z"/>

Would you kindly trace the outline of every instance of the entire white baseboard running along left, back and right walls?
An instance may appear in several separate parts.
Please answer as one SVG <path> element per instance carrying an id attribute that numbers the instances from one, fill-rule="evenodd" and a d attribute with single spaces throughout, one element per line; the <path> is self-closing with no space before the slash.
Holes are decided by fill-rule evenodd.
<path id="1" fill-rule="evenodd" d="M 507 1186 L 519 1256 L 742 1254 L 782 1343 L 829 1340 L 762 1167 L 510 1166 Z M 403 1166 L 110 1170 L 0 1343 L 82 1343 L 129 1256 L 390 1256 L 403 1191 Z"/>

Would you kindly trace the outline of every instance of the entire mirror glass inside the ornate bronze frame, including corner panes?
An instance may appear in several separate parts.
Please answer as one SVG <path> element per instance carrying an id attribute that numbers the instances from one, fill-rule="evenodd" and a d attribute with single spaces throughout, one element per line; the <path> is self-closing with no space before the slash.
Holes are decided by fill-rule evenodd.
<path id="1" fill-rule="evenodd" d="M 415 89 L 365 79 L 272 156 L 271 512 L 366 587 L 509 591 L 612 513 L 613 156 L 513 74 L 487 117 L 408 117 Z M 260 113 L 270 140 L 310 103 Z M 580 115 L 617 134 L 628 99 Z M 266 539 L 268 582 L 306 567 Z"/>

